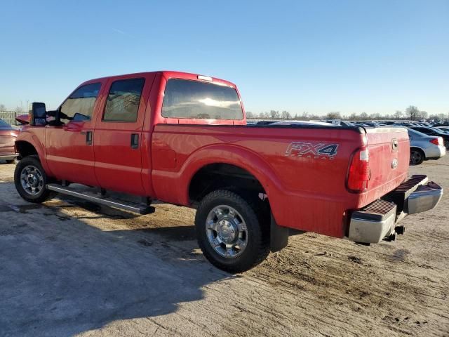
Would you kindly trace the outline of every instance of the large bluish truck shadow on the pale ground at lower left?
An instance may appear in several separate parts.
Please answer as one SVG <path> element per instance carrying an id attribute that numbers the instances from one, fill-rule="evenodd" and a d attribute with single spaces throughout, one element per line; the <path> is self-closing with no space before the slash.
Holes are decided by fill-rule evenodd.
<path id="1" fill-rule="evenodd" d="M 82 219 L 59 221 L 62 213 L 44 216 L 45 206 L 20 212 L 27 204 L 6 185 L 0 183 L 0 336 L 73 336 L 118 319 L 166 315 L 203 298 L 206 284 L 232 277 L 201 254 L 164 253 L 163 242 L 149 239 L 185 231 L 190 240 L 193 227 L 104 232 Z"/>

